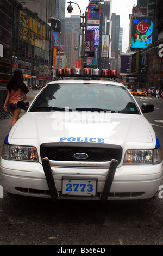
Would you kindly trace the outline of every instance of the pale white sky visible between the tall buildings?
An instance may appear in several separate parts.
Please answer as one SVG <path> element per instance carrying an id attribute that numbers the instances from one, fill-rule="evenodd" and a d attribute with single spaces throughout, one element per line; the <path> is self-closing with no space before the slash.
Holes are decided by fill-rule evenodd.
<path id="1" fill-rule="evenodd" d="M 85 14 L 85 10 L 89 5 L 89 0 L 74 0 L 79 5 L 82 13 Z M 67 7 L 68 1 L 66 1 L 65 17 L 70 17 L 68 14 Z M 120 15 L 120 27 L 123 28 L 123 38 L 122 38 L 122 52 L 126 52 L 129 44 L 129 14 L 132 13 L 132 8 L 137 5 L 137 0 L 112 0 L 112 13 Z M 72 4 L 73 11 L 71 15 L 80 15 L 80 10 L 76 4 Z"/>

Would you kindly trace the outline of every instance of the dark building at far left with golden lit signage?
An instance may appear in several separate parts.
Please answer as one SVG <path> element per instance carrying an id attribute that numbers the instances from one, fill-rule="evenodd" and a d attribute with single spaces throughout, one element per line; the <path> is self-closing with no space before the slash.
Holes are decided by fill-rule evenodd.
<path id="1" fill-rule="evenodd" d="M 20 69 L 26 84 L 51 80 L 51 27 L 18 1 L 4 0 L 0 10 L 0 85 Z"/>

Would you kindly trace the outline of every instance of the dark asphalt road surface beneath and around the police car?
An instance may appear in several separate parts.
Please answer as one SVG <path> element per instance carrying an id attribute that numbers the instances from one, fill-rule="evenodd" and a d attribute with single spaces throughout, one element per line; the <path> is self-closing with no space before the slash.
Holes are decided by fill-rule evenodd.
<path id="1" fill-rule="evenodd" d="M 36 93 L 30 91 L 29 99 Z M 154 103 L 154 112 L 146 114 L 146 118 L 163 149 L 163 101 L 136 99 L 140 105 Z M 102 204 L 73 200 L 53 203 L 51 199 L 5 193 L 0 199 L 0 245 L 55 245 L 53 253 L 67 245 L 163 245 L 163 198 L 158 195 L 149 200 Z"/>

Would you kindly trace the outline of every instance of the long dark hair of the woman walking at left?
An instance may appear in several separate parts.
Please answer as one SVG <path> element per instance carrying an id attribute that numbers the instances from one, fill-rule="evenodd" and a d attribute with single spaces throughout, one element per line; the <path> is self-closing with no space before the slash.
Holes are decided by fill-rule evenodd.
<path id="1" fill-rule="evenodd" d="M 21 70 L 17 69 L 14 71 L 14 74 L 12 75 L 12 78 L 10 79 L 7 89 L 9 92 L 11 89 L 18 90 L 18 89 L 24 90 L 25 93 L 28 93 L 28 89 L 26 87 L 26 84 L 23 82 L 23 73 Z"/>

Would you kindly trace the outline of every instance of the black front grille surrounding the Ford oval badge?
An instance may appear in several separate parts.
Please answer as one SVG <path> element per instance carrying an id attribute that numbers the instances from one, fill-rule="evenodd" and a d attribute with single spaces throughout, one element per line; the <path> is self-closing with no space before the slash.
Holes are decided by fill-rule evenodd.
<path id="1" fill-rule="evenodd" d="M 67 147 L 67 146 L 47 146 L 41 145 L 41 159 L 48 157 L 54 161 L 84 161 L 84 162 L 105 162 L 115 159 L 120 163 L 122 157 L 122 148 L 110 147 Z M 76 159 L 73 155 L 76 153 L 85 153 L 88 155 L 86 159 Z"/>

